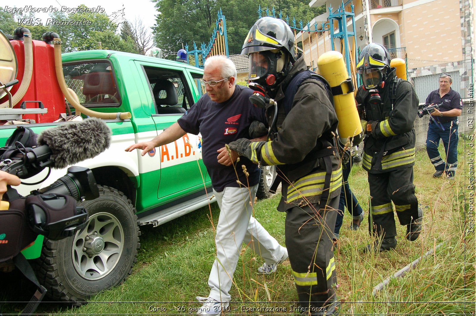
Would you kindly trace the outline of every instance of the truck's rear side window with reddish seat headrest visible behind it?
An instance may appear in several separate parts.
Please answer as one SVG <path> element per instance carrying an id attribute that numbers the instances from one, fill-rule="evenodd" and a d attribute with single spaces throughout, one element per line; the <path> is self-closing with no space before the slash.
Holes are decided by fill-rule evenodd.
<path id="1" fill-rule="evenodd" d="M 108 62 L 64 64 L 66 84 L 86 107 L 114 106 L 121 103 L 116 79 Z"/>

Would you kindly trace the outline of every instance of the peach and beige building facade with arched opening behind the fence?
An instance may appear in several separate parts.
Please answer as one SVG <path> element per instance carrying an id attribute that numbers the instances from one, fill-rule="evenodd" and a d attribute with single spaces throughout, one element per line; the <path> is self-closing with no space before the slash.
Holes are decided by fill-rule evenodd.
<path id="1" fill-rule="evenodd" d="M 310 7 L 326 6 L 326 12 L 310 21 L 311 32 L 300 32 L 307 64 L 317 67 L 317 58 L 331 49 L 329 8 L 344 6 L 355 14 L 357 47 L 349 38 L 350 49 L 360 51 L 369 42 L 385 46 L 392 57 L 407 60 L 408 78 L 422 99 L 437 88 L 441 73 L 452 75 L 453 88 L 463 98 L 475 82 L 475 0 L 312 0 Z M 326 24 L 327 23 L 327 24 Z M 322 26 L 324 25 L 324 32 Z M 313 32 L 316 30 L 317 32 Z M 327 30 L 326 30 L 327 29 Z M 352 32 L 352 19 L 347 19 Z M 337 30 L 336 30 L 337 31 Z M 334 40 L 335 49 L 341 47 Z M 424 97 L 423 97 L 424 99 Z"/>

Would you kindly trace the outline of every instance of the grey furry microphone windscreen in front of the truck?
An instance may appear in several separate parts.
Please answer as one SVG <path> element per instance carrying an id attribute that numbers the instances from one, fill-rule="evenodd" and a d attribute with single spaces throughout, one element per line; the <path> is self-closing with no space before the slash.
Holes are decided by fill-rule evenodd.
<path id="1" fill-rule="evenodd" d="M 111 129 L 99 118 L 87 118 L 44 130 L 37 142 L 50 147 L 53 168 L 61 169 L 93 158 L 109 148 Z"/>

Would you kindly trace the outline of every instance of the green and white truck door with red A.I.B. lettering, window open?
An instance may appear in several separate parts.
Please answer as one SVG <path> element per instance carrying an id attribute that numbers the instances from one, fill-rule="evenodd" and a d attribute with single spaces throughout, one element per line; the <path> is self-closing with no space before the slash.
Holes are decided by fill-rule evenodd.
<path id="1" fill-rule="evenodd" d="M 179 67 L 171 69 L 152 63 L 141 63 L 141 67 L 149 81 L 154 100 L 152 118 L 160 134 L 177 122 L 193 105 L 193 99 L 187 79 Z M 200 135 L 186 134 L 149 154 L 160 158 L 159 199 L 180 197 L 203 189 L 202 179 L 206 177 L 206 169 L 201 160 Z"/>

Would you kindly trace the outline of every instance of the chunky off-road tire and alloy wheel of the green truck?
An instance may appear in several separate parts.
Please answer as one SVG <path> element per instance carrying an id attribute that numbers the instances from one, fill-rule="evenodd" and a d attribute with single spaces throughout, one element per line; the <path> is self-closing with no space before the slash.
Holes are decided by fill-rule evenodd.
<path id="1" fill-rule="evenodd" d="M 116 189 L 98 188 L 99 198 L 78 203 L 88 210 L 86 228 L 61 240 L 45 238 L 41 256 L 36 259 L 36 273 L 48 295 L 76 306 L 124 281 L 132 272 L 140 248 L 139 222 L 131 201 Z M 97 241 L 95 245 L 99 246 L 102 240 L 103 249 L 88 245 L 89 253 L 84 252 L 81 249 L 88 249 L 83 248 L 85 240 Z M 91 251 L 99 253 L 90 255 Z M 104 259 L 109 264 L 100 271 Z"/>

